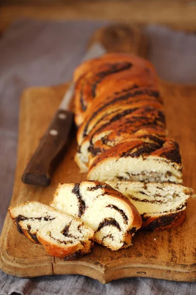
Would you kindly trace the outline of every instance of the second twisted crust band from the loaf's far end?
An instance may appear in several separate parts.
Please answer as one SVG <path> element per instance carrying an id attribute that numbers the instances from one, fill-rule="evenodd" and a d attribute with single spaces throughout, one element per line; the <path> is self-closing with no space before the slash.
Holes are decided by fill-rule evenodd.
<path id="1" fill-rule="evenodd" d="M 112 89 L 104 89 L 96 95 L 87 110 L 84 112 L 84 124 L 79 128 L 79 133 L 89 133 L 89 128 L 96 124 L 96 121 L 104 115 L 113 112 L 113 110 L 122 110 L 122 107 L 129 108 L 144 107 L 144 105 L 156 107 L 163 110 L 163 101 L 157 89 L 152 87 L 129 87 L 127 84 L 122 84 L 121 89 L 114 86 Z M 104 117 L 103 117 L 104 118 Z M 88 131 L 88 132 L 87 132 Z M 82 136 L 82 134 L 81 134 Z M 78 138 L 77 138 L 78 139 Z"/>

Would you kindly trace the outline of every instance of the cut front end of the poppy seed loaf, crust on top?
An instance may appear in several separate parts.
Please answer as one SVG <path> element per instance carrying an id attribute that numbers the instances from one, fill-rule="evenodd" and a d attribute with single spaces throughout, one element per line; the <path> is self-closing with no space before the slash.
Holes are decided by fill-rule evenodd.
<path id="1" fill-rule="evenodd" d="M 87 179 L 181 183 L 179 146 L 155 134 L 126 139 L 95 157 Z"/>

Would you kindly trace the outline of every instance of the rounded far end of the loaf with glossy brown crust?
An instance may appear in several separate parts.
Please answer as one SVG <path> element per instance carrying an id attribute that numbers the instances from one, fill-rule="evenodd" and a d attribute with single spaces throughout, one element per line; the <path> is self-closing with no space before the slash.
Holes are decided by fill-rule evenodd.
<path id="1" fill-rule="evenodd" d="M 74 74 L 75 82 L 75 122 L 80 125 L 85 111 L 95 96 L 105 90 L 127 86 L 155 86 L 158 80 L 153 66 L 145 59 L 134 55 L 107 54 L 98 59 L 86 61 Z M 109 83 L 110 82 L 110 83 Z M 115 90 L 117 91 L 117 90 Z"/>

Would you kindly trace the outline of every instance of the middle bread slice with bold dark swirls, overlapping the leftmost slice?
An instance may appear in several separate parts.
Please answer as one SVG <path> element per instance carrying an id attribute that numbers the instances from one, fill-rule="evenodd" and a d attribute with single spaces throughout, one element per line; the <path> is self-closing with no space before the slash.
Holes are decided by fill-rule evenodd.
<path id="1" fill-rule="evenodd" d="M 50 206 L 80 218 L 95 231 L 95 241 L 111 250 L 128 247 L 142 224 L 132 203 L 99 181 L 59 184 Z"/>

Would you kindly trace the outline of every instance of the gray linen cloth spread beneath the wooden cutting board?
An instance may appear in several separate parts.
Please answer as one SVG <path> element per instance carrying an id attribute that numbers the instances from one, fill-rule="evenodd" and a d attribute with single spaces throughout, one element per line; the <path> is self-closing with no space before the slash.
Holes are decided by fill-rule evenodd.
<path id="1" fill-rule="evenodd" d="M 0 229 L 12 195 L 19 98 L 29 86 L 54 85 L 72 77 L 93 31 L 106 22 L 14 23 L 0 39 Z M 146 34 L 159 76 L 196 84 L 196 36 L 148 26 Z M 17 278 L 0 271 L 0 295 L 194 295 L 196 283 L 126 278 L 102 285 L 81 275 Z"/>

